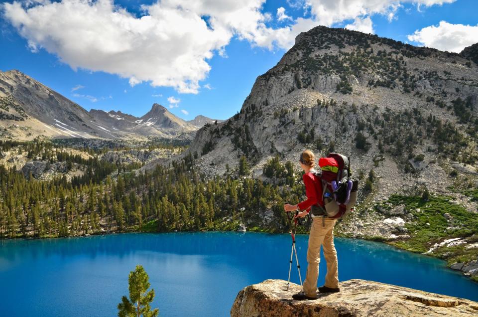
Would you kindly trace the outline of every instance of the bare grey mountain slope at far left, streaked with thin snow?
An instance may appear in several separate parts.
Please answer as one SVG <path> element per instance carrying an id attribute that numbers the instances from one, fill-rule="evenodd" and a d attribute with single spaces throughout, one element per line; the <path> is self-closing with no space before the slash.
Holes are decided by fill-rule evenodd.
<path id="1" fill-rule="evenodd" d="M 85 109 L 31 77 L 16 71 L 0 72 L 1 137 L 106 137 L 97 131 Z"/>

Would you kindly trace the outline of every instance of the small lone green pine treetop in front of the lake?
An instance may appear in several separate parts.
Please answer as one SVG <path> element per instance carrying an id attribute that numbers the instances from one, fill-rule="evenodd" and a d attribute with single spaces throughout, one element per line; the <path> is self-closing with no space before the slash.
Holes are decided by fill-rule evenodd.
<path id="1" fill-rule="evenodd" d="M 159 310 L 151 311 L 150 303 L 154 299 L 154 289 L 146 293 L 150 284 L 148 274 L 141 265 L 137 265 L 134 271 L 129 272 L 128 290 L 129 299 L 126 296 L 121 298 L 118 304 L 119 317 L 156 317 Z"/>

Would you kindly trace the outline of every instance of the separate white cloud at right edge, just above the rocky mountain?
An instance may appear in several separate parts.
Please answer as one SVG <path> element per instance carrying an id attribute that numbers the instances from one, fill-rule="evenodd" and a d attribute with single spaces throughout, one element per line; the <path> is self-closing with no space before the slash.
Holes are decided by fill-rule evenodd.
<path id="1" fill-rule="evenodd" d="M 441 21 L 408 35 L 408 40 L 443 51 L 461 52 L 465 47 L 478 42 L 478 24 L 463 25 Z"/>

